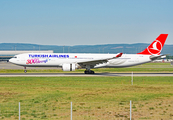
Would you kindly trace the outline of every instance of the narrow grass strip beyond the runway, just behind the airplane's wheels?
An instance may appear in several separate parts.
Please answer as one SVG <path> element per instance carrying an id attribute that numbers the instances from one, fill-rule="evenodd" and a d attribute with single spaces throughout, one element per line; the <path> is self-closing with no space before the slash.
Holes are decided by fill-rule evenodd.
<path id="1" fill-rule="evenodd" d="M 85 69 L 77 69 L 75 71 L 70 71 L 70 73 L 83 73 Z M 173 66 L 170 63 L 146 63 L 134 67 L 127 68 L 99 68 L 93 69 L 96 73 L 100 72 L 167 72 L 173 73 Z M 61 69 L 28 69 L 28 73 L 68 73 L 63 72 Z M 23 69 L 0 69 L 0 73 L 23 73 Z"/>

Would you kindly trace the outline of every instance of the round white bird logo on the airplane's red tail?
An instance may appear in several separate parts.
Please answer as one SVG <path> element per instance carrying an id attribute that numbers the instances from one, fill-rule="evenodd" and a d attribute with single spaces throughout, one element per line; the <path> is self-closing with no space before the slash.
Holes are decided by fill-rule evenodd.
<path id="1" fill-rule="evenodd" d="M 150 54 L 160 54 L 162 50 L 162 43 L 155 40 L 150 46 L 147 47 L 147 50 Z"/>

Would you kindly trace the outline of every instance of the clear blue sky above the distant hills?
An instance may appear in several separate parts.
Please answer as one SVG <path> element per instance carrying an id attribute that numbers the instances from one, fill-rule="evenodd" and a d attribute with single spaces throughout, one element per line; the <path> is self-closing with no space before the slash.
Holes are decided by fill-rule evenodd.
<path id="1" fill-rule="evenodd" d="M 0 43 L 173 44 L 173 0 L 0 0 Z"/>

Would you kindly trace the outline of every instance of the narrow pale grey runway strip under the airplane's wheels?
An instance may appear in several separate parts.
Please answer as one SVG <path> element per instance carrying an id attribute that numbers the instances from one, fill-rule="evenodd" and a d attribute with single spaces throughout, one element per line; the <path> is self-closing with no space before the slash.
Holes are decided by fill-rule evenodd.
<path id="1" fill-rule="evenodd" d="M 0 73 L 0 77 L 98 77 L 132 76 L 132 73 Z M 173 73 L 133 73 L 133 76 L 173 76 Z"/>

